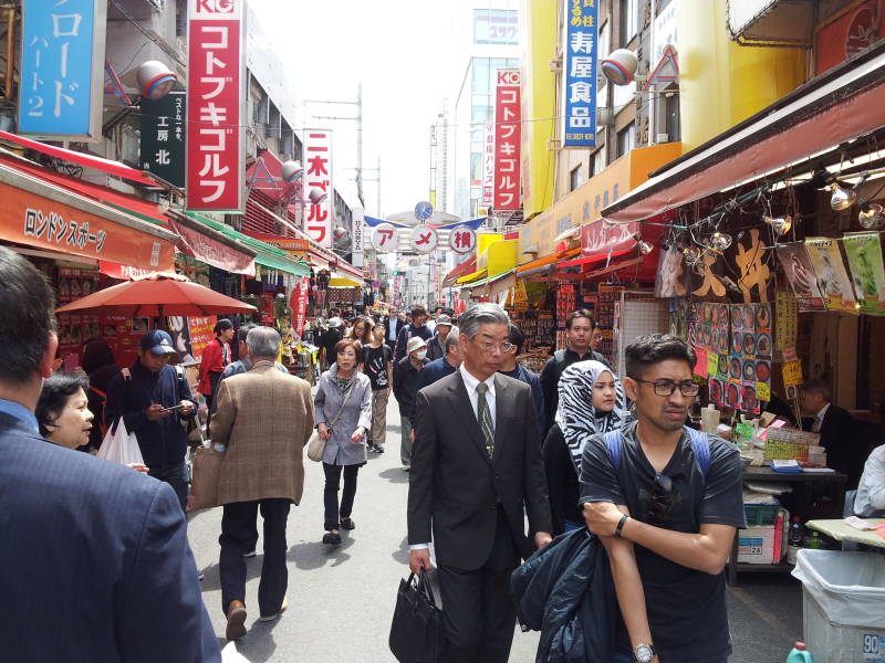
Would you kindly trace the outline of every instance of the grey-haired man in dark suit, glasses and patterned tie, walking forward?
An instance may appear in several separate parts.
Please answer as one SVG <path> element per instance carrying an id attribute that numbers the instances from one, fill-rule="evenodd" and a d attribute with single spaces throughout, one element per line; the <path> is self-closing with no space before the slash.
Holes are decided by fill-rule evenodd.
<path id="1" fill-rule="evenodd" d="M 433 522 L 444 659 L 458 663 L 508 660 L 516 625 L 510 573 L 520 557 L 551 540 L 532 391 L 497 373 L 510 349 L 509 322 L 497 304 L 465 313 L 464 364 L 418 392 L 409 567 L 430 568 Z M 525 535 L 527 512 L 533 541 Z"/>

